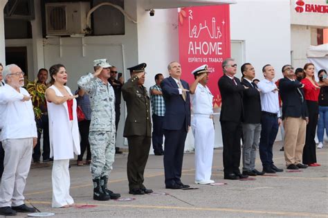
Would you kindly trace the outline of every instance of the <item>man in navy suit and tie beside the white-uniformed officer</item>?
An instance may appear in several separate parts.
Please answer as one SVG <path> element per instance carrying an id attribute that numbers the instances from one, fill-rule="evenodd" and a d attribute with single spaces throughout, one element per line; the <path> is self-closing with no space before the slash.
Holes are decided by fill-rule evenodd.
<path id="1" fill-rule="evenodd" d="M 189 188 L 189 185 L 181 182 L 185 138 L 190 129 L 189 84 L 180 80 L 181 65 L 178 62 L 171 62 L 167 69 L 170 77 L 161 82 L 165 100 L 163 119 L 165 187 L 171 189 Z"/>

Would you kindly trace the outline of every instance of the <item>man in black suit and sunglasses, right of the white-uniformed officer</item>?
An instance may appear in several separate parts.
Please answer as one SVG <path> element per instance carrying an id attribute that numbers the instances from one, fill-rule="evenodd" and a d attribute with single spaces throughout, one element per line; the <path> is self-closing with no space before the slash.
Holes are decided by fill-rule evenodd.
<path id="1" fill-rule="evenodd" d="M 222 98 L 220 123 L 224 143 L 224 179 L 244 179 L 239 171 L 240 139 L 242 138 L 243 91 L 248 89 L 235 78 L 237 64 L 232 58 L 222 62 L 224 75 L 219 79 Z"/>

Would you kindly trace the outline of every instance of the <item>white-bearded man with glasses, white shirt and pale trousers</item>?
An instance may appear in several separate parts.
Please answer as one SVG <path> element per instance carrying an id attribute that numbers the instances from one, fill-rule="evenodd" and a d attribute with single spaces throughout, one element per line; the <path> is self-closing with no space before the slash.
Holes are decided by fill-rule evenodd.
<path id="1" fill-rule="evenodd" d="M 37 126 L 30 95 L 24 86 L 24 72 L 10 64 L 3 69 L 6 82 L 0 91 L 1 140 L 5 151 L 0 189 L 0 214 L 35 212 L 24 203 L 24 188 L 30 171 Z"/>

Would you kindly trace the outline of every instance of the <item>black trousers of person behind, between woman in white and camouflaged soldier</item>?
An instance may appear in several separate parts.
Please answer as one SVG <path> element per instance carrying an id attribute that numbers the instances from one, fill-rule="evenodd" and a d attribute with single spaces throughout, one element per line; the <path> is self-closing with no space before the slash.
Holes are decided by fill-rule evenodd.
<path id="1" fill-rule="evenodd" d="M 78 156 L 78 161 L 83 160 L 84 152 L 86 149 L 86 160 L 91 160 L 91 151 L 89 144 L 89 129 L 90 129 L 90 120 L 82 120 L 79 122 L 79 131 L 81 135 L 80 149 L 81 154 Z"/>

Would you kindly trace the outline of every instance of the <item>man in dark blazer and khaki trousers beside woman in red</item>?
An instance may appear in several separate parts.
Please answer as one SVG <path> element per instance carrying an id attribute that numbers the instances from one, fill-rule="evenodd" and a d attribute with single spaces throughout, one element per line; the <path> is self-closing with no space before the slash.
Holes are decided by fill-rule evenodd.
<path id="1" fill-rule="evenodd" d="M 309 113 L 304 100 L 304 84 L 295 80 L 293 67 L 286 64 L 282 67 L 285 78 L 279 82 L 282 98 L 282 119 L 284 120 L 284 158 L 289 170 L 307 168 L 302 164 L 303 147 Z"/>

